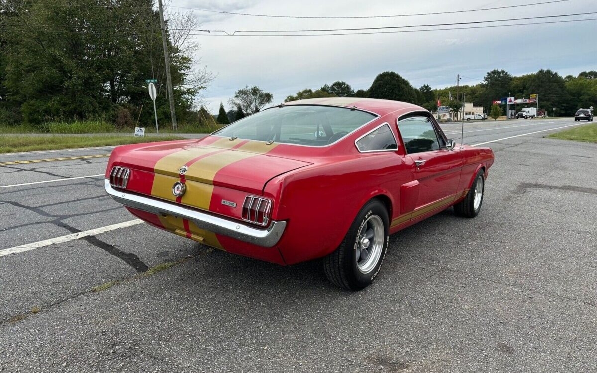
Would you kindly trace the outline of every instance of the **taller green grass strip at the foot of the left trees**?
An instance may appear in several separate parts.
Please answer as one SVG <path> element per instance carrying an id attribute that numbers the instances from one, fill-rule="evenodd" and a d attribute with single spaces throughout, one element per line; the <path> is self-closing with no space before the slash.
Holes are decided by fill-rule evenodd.
<path id="1" fill-rule="evenodd" d="M 202 126 L 199 124 L 179 123 L 178 130 L 174 132 L 171 126 L 162 125 L 159 132 L 165 134 L 174 133 L 202 133 L 207 134 L 216 131 L 220 126 Z M 112 134 L 127 133 L 132 134 L 134 127 L 115 127 L 110 122 L 104 121 L 78 121 L 78 122 L 48 122 L 40 125 L 19 124 L 6 125 L 0 124 L 0 134 Z M 155 133 L 155 125 L 149 125 L 145 128 L 146 133 Z"/>

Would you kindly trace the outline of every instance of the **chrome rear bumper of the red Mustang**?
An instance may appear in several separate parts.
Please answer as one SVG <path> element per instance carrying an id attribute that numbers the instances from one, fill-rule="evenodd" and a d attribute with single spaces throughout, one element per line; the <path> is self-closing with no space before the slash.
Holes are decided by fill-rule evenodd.
<path id="1" fill-rule="evenodd" d="M 105 179 L 104 187 L 106 193 L 119 204 L 130 208 L 147 211 L 156 215 L 171 215 L 177 218 L 187 219 L 201 229 L 219 235 L 229 236 L 239 241 L 253 243 L 254 245 L 272 247 L 280 241 L 282 233 L 286 228 L 285 221 L 272 221 L 267 229 L 257 229 L 243 223 L 226 220 L 205 212 L 185 208 L 171 202 L 159 201 L 154 198 L 147 198 L 133 193 L 116 190 L 110 185 L 110 180 Z"/>

